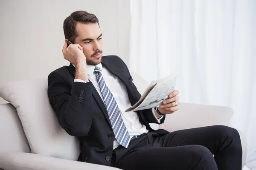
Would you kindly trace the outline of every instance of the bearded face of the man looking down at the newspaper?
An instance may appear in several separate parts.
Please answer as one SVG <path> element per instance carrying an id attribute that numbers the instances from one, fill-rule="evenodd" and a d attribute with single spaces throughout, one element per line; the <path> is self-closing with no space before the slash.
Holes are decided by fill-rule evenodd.
<path id="1" fill-rule="evenodd" d="M 77 23 L 76 31 L 79 34 L 76 37 L 76 44 L 83 48 L 86 62 L 88 65 L 97 65 L 102 59 L 102 33 L 98 23 Z"/>

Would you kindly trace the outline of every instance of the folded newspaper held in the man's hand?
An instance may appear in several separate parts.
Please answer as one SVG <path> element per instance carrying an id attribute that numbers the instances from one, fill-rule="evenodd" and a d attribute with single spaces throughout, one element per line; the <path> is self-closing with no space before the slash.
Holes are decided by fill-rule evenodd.
<path id="1" fill-rule="evenodd" d="M 169 98 L 168 95 L 175 90 L 176 79 L 177 71 L 163 79 L 152 81 L 140 100 L 125 112 L 159 107 L 165 99 Z"/>

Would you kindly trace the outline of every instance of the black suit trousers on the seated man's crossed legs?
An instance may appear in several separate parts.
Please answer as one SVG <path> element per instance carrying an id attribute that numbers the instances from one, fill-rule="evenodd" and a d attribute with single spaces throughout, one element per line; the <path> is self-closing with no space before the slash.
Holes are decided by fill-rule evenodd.
<path id="1" fill-rule="evenodd" d="M 241 170 L 241 159 L 237 130 L 216 125 L 164 136 L 145 133 L 133 139 L 128 149 L 117 147 L 111 166 L 123 170 Z"/>

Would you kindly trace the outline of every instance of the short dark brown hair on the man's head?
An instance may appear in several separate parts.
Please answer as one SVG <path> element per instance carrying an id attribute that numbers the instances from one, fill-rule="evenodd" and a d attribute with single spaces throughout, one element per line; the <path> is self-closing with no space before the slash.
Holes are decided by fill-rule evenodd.
<path id="1" fill-rule="evenodd" d="M 86 11 L 75 11 L 70 16 L 68 16 L 63 23 L 63 30 L 65 38 L 70 40 L 70 42 L 75 43 L 78 33 L 76 31 L 77 23 L 98 23 L 99 19 L 94 15 Z"/>

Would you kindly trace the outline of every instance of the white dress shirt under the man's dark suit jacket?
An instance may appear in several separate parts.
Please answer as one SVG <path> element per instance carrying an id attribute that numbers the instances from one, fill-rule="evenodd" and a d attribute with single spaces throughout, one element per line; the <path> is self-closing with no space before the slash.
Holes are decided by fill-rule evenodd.
<path id="1" fill-rule="evenodd" d="M 110 71 L 108 71 L 107 68 L 105 68 L 105 67 L 102 68 L 101 63 L 96 65 L 96 67 L 99 67 L 102 69 L 102 77 L 104 78 L 105 83 L 108 86 L 109 90 L 113 94 L 113 97 L 116 99 L 116 103 L 119 107 L 122 119 L 125 123 L 126 129 L 128 130 L 129 135 L 131 137 L 133 137 L 135 135 L 138 136 L 143 133 L 147 133 L 148 130 L 146 129 L 145 125 L 140 123 L 139 117 L 136 112 L 134 112 L 134 111 L 125 112 L 126 109 L 131 107 L 131 102 L 128 97 L 125 84 L 119 78 L 117 78 L 115 75 L 113 75 Z M 96 88 L 96 90 L 99 93 L 99 96 L 102 98 L 102 100 L 104 102 L 104 98 L 103 98 L 101 90 L 99 88 L 98 80 L 96 78 L 96 75 L 93 74 L 94 68 L 95 68 L 94 65 L 87 65 L 88 78 L 93 83 L 94 87 Z M 86 83 L 86 81 L 81 80 L 81 79 L 75 79 L 74 81 Z M 157 119 L 157 116 L 154 113 L 154 108 L 152 108 L 152 113 L 155 116 L 155 118 Z M 160 119 L 162 119 L 162 118 L 163 118 L 163 116 Z M 160 119 L 157 119 L 157 121 L 160 122 Z M 116 140 L 114 140 L 113 149 L 118 147 L 118 145 L 119 145 L 119 143 Z"/>

